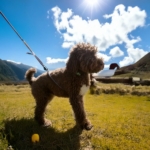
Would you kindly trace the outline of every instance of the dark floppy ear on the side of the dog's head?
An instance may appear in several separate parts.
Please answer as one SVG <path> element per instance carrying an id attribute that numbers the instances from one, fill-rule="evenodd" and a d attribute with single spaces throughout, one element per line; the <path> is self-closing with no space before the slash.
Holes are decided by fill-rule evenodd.
<path id="1" fill-rule="evenodd" d="M 66 63 L 66 68 L 69 72 L 74 74 L 78 71 L 78 58 L 73 51 L 70 52 L 70 57 Z"/>

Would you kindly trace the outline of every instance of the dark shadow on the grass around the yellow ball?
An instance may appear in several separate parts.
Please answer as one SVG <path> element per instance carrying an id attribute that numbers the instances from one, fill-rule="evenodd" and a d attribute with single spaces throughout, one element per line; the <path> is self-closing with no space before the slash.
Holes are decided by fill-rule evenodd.
<path id="1" fill-rule="evenodd" d="M 65 132 L 40 127 L 33 119 L 6 120 L 4 128 L 9 145 L 16 150 L 78 150 L 81 132 L 77 126 Z M 38 143 L 31 142 L 34 133 L 40 136 Z"/>

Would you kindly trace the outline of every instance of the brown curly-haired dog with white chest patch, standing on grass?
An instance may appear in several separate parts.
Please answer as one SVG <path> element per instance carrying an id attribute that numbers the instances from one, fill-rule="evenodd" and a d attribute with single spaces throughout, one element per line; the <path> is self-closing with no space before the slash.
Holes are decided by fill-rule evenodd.
<path id="1" fill-rule="evenodd" d="M 93 126 L 86 117 L 83 96 L 90 86 L 90 74 L 103 68 L 103 59 L 97 57 L 97 48 L 84 43 L 71 49 L 65 68 L 45 72 L 37 78 L 33 77 L 36 69 L 30 68 L 25 77 L 36 100 L 35 120 L 40 125 L 50 126 L 51 122 L 44 118 L 47 104 L 54 96 L 68 97 L 76 123 L 82 129 L 90 130 Z"/>

